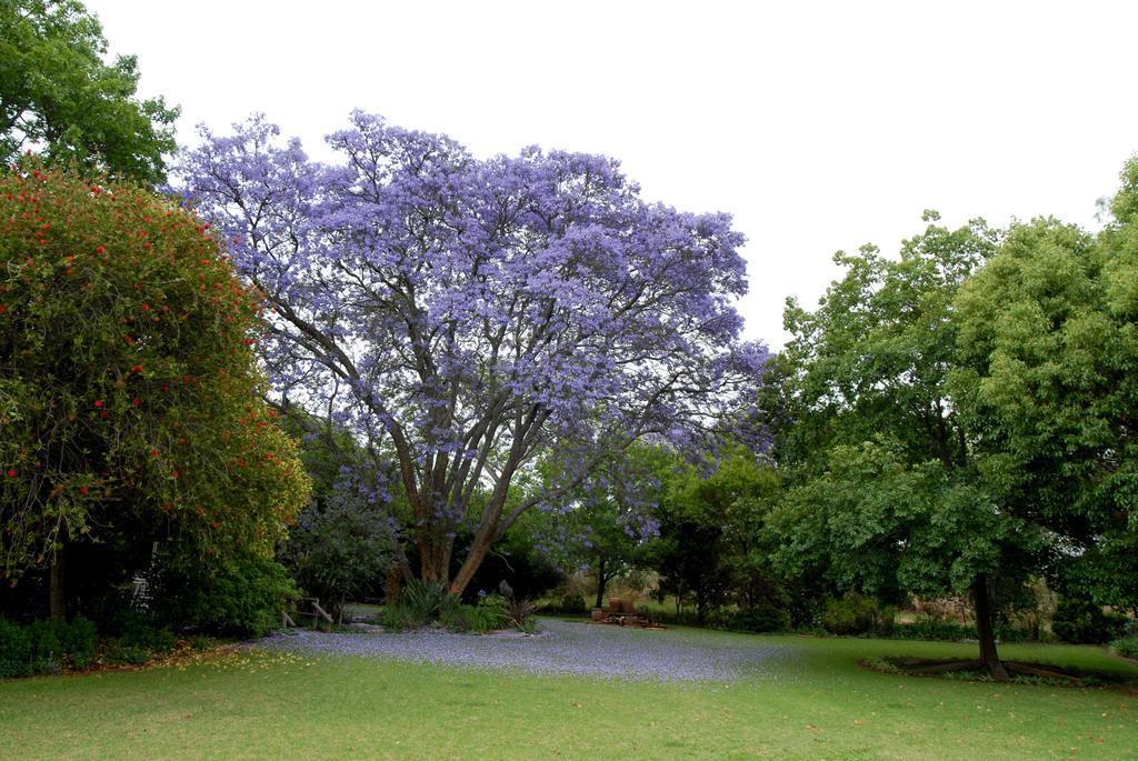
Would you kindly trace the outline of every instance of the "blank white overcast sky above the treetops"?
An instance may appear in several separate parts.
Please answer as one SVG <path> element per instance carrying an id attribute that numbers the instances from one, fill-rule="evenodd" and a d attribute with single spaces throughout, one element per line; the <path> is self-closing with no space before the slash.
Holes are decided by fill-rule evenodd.
<path id="1" fill-rule="evenodd" d="M 265 111 L 310 154 L 356 107 L 476 155 L 621 159 L 646 198 L 729 212 L 747 333 L 785 340 L 838 249 L 958 225 L 1095 228 L 1138 151 L 1135 2 L 88 0 L 140 92 L 224 129 Z"/>

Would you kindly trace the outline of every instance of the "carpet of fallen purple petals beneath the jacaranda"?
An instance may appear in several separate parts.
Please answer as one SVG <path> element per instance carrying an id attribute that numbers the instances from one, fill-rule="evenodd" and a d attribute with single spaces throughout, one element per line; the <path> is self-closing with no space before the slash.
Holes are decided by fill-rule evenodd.
<path id="1" fill-rule="evenodd" d="M 262 647 L 318 655 L 393 657 L 415 663 L 467 665 L 624 679 L 729 680 L 762 678 L 794 656 L 791 645 L 693 630 L 644 630 L 542 619 L 522 637 L 412 632 L 277 635 Z"/>

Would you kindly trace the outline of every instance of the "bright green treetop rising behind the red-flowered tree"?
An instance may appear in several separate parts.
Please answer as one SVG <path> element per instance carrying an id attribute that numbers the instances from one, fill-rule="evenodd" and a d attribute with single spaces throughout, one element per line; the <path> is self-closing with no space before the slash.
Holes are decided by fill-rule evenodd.
<path id="1" fill-rule="evenodd" d="M 0 160 L 27 150 L 157 183 L 178 109 L 135 97 L 134 56 L 104 57 L 97 18 L 75 0 L 0 0 Z"/>

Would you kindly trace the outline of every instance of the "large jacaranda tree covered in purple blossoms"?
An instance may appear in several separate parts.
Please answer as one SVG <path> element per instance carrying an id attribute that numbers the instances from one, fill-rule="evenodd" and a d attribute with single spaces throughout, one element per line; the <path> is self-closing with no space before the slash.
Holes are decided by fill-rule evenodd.
<path id="1" fill-rule="evenodd" d="M 645 202 L 612 159 L 480 160 L 362 113 L 328 138 L 340 165 L 278 134 L 261 118 L 203 131 L 180 191 L 272 307 L 278 390 L 394 452 L 423 579 L 461 593 L 521 513 L 605 453 L 690 444 L 754 388 L 766 350 L 740 341 L 726 214 Z M 511 496 L 543 454 L 570 463 L 562 482 Z"/>

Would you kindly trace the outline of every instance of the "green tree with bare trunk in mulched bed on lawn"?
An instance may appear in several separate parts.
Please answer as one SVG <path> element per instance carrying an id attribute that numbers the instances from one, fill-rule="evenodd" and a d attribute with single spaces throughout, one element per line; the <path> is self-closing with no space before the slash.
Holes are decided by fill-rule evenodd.
<path id="1" fill-rule="evenodd" d="M 787 485 L 770 519 L 781 568 L 887 599 L 971 592 L 981 660 L 1006 679 L 997 599 L 1039 568 L 1041 530 L 987 488 L 949 388 L 953 299 L 997 243 L 982 222 L 930 224 L 897 260 L 839 253 L 847 274 L 818 308 L 787 304 L 794 338 L 764 407 Z"/>

